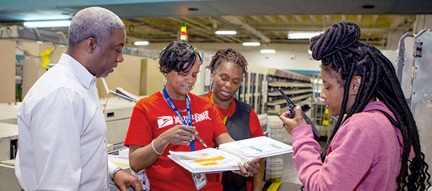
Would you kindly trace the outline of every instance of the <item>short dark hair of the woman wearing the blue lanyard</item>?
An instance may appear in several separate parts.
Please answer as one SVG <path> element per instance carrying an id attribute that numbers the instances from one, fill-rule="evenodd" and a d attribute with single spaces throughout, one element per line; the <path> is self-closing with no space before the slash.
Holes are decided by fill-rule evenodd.
<path id="1" fill-rule="evenodd" d="M 159 70 L 167 74 L 172 70 L 176 72 L 189 72 L 195 63 L 196 57 L 199 58 L 201 65 L 202 59 L 195 47 L 185 42 L 171 42 L 159 56 Z"/>

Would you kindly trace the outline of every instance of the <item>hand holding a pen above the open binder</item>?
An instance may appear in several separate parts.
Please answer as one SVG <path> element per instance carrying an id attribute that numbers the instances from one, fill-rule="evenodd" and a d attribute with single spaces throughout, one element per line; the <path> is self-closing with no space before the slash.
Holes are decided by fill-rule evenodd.
<path id="1" fill-rule="evenodd" d="M 194 126 L 176 125 L 160 135 L 160 138 L 171 144 L 189 145 L 198 134 Z"/>

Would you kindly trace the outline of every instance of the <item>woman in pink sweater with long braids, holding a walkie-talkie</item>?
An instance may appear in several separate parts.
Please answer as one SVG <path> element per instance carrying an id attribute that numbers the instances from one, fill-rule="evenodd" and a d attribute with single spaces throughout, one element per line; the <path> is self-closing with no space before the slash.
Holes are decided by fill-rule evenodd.
<path id="1" fill-rule="evenodd" d="M 321 98 L 339 118 L 320 155 L 301 108 L 293 119 L 280 115 L 293 136 L 298 177 L 306 190 L 425 190 L 429 166 L 394 67 L 359 38 L 350 22 L 311 38 L 312 56 L 322 63 Z"/>

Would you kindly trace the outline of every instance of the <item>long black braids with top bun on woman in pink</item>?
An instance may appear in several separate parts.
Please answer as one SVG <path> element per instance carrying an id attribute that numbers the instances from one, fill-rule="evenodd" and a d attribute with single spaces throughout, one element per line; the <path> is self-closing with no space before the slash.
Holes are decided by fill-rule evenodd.
<path id="1" fill-rule="evenodd" d="M 424 181 L 429 183 L 429 165 L 424 161 L 424 153 L 420 149 L 419 134 L 414 117 L 408 107 L 401 84 L 399 83 L 392 63 L 375 47 L 359 42 L 360 28 L 352 22 L 337 22 L 327 28 L 324 33 L 311 38 L 310 49 L 315 60 L 321 60 L 325 71 L 339 74 L 338 82 L 344 85 L 344 99 L 341 113 L 334 126 L 332 135 L 321 153 L 325 154 L 337 133 L 339 126 L 355 113 L 360 113 L 370 99 L 374 97 L 383 101 L 396 117 L 396 127 L 403 137 L 402 161 L 399 176 L 396 178 L 397 190 L 425 190 Z M 362 77 L 359 92 L 353 108 L 344 118 L 350 81 L 355 76 Z M 408 160 L 411 146 L 415 158 Z M 409 161 L 409 163 L 408 163 Z M 409 172 L 408 172 L 409 169 Z"/>

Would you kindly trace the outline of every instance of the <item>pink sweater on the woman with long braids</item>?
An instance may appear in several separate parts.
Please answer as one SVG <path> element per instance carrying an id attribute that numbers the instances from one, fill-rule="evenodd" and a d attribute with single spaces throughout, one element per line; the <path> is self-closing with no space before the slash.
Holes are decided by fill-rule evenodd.
<path id="1" fill-rule="evenodd" d="M 325 163 L 311 127 L 293 129 L 293 160 L 306 190 L 396 190 L 402 136 L 378 110 L 394 117 L 383 102 L 369 103 L 339 128 Z M 411 149 L 410 158 L 414 156 Z"/>

